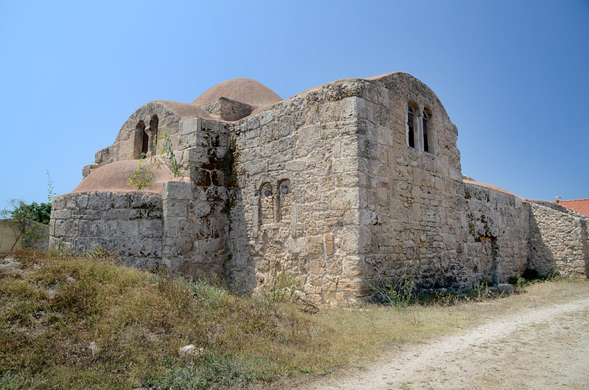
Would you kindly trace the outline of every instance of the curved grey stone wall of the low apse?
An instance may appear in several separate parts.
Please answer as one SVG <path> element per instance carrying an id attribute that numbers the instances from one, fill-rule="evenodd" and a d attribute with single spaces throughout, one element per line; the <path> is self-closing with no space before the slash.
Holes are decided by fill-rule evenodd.
<path id="1" fill-rule="evenodd" d="M 139 193 L 70 193 L 55 197 L 49 247 L 76 253 L 115 249 L 126 265 L 159 267 L 161 199 Z"/>

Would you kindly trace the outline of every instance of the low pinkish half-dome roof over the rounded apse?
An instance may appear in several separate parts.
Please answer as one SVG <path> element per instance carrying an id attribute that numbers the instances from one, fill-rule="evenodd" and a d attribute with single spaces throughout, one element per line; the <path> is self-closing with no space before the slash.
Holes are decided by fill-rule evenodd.
<path id="1" fill-rule="evenodd" d="M 143 161 L 142 164 L 148 164 Z M 82 182 L 71 193 L 89 193 L 93 191 L 109 191 L 113 193 L 133 193 L 135 188 L 127 184 L 127 181 L 137 170 L 139 160 L 113 161 L 93 170 L 90 175 L 82 179 Z M 181 177 L 174 177 L 166 166 L 152 167 L 153 179 L 151 185 L 141 193 L 160 194 L 165 181 L 179 181 Z"/>

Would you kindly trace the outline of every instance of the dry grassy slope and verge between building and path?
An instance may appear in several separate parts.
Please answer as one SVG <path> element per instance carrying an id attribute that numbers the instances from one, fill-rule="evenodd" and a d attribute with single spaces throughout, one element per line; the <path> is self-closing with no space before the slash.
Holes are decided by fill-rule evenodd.
<path id="1" fill-rule="evenodd" d="M 105 256 L 22 251 L 0 267 L 0 388 L 209 389 L 327 373 L 404 342 L 455 333 L 527 305 L 588 296 L 589 283 L 538 283 L 474 303 L 364 305 L 309 314 L 119 267 Z M 187 344 L 203 353 L 183 357 Z"/>

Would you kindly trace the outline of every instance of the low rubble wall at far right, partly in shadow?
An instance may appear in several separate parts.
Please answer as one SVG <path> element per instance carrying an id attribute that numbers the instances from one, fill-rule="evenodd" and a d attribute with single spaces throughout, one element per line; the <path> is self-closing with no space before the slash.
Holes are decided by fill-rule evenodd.
<path id="1" fill-rule="evenodd" d="M 528 267 L 540 274 L 589 276 L 589 218 L 563 206 L 530 203 Z"/>

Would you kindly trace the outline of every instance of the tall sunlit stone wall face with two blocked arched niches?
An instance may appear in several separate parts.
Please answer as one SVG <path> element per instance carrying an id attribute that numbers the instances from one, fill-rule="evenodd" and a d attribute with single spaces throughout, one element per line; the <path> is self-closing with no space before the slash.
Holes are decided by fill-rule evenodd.
<path id="1" fill-rule="evenodd" d="M 357 290 L 358 119 L 363 81 L 294 96 L 231 125 L 236 185 L 230 189 L 231 280 L 252 291 L 285 267 L 310 301 L 336 303 Z M 362 206 L 365 207 L 365 204 Z"/>

